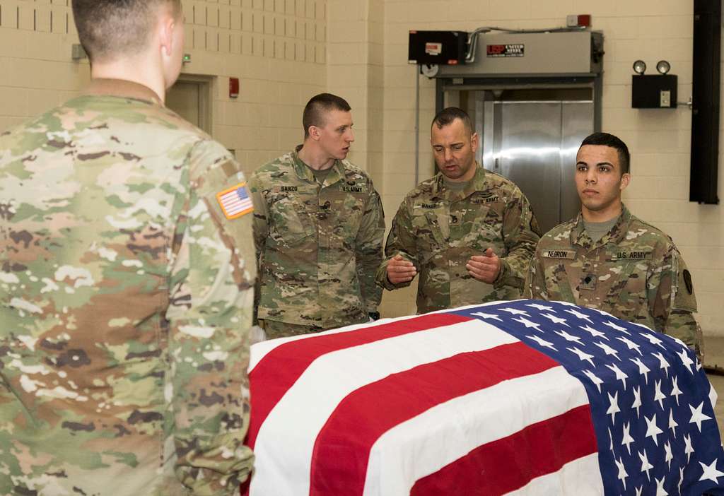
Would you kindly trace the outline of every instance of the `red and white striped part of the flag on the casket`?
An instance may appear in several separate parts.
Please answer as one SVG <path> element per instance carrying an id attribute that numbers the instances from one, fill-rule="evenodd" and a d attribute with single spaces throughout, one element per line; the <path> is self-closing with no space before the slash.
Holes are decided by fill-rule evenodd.
<path id="1" fill-rule="evenodd" d="M 446 313 L 258 343 L 251 496 L 602 494 L 586 391 Z"/>

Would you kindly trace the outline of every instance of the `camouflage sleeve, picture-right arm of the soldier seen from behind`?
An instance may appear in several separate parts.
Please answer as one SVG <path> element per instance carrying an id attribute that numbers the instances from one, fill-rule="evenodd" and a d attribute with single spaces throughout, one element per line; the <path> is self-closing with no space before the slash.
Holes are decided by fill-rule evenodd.
<path id="1" fill-rule="evenodd" d="M 165 391 L 174 422 L 166 446 L 175 450 L 176 475 L 191 494 L 232 495 L 253 463 L 243 444 L 255 273 L 252 216 L 227 220 L 222 213 L 216 193 L 244 178 L 226 150 L 209 143 L 190 154 L 185 220 L 174 241 Z"/>

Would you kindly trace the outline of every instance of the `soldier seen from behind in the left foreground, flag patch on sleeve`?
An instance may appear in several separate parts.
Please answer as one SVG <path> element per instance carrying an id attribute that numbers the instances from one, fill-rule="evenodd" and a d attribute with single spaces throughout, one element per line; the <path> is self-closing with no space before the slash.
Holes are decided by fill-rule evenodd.
<path id="1" fill-rule="evenodd" d="M 0 494 L 232 495 L 251 471 L 251 215 L 216 199 L 243 189 L 228 151 L 164 108 L 180 8 L 74 0 L 93 82 L 0 135 Z"/>

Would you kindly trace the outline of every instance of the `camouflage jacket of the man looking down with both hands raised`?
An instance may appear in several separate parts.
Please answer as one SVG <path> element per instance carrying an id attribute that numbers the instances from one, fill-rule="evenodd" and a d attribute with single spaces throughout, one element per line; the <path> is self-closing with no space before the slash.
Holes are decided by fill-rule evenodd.
<path id="1" fill-rule="evenodd" d="M 470 186 L 454 192 L 437 174 L 418 184 L 397 210 L 376 280 L 390 290 L 409 285 L 387 279 L 387 264 L 399 254 L 420 274 L 419 313 L 520 298 L 539 236 L 530 204 L 513 182 L 478 166 Z M 489 247 L 501 261 L 493 284 L 466 269 L 470 257 Z"/>

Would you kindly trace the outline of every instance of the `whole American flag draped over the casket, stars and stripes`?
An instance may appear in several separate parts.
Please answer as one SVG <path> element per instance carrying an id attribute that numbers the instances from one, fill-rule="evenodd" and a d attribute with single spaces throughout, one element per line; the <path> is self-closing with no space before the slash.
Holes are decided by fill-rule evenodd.
<path id="1" fill-rule="evenodd" d="M 716 395 L 666 335 L 518 300 L 252 347 L 251 496 L 724 495 Z"/>

